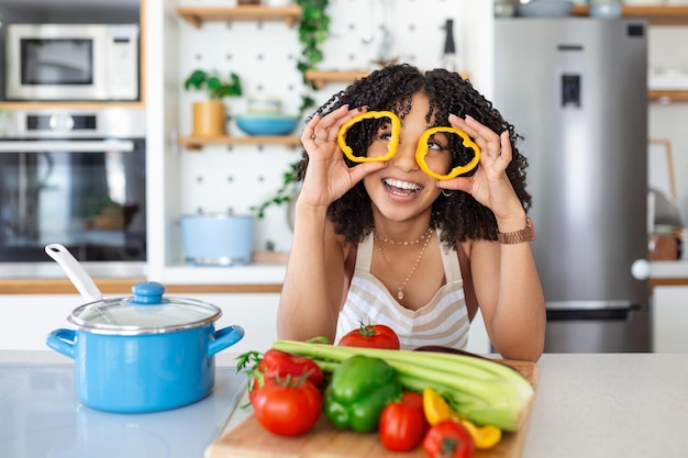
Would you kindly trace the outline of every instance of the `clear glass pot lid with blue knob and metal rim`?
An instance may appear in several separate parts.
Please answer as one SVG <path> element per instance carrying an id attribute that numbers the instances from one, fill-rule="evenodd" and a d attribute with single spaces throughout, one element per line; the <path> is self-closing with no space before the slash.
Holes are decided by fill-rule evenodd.
<path id="1" fill-rule="evenodd" d="M 222 310 L 186 298 L 164 298 L 165 287 L 144 281 L 132 287 L 133 297 L 106 299 L 71 312 L 70 323 L 100 334 L 158 334 L 200 327 L 220 319 Z"/>

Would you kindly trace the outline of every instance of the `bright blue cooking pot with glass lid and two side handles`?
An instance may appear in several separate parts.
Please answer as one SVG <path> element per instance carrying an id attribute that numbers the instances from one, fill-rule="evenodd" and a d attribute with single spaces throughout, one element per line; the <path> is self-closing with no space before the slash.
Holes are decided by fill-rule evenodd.
<path id="1" fill-rule="evenodd" d="M 47 345 L 75 360 L 77 395 L 107 412 L 157 412 L 196 402 L 215 382 L 214 355 L 244 336 L 241 326 L 214 329 L 217 305 L 163 298 L 165 287 L 142 282 L 131 298 L 77 308 L 76 329 L 55 329 Z"/>

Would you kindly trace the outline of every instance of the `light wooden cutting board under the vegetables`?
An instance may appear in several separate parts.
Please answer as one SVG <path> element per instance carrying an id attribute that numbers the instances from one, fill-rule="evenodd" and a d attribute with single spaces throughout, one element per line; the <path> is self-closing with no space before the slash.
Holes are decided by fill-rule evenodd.
<path id="1" fill-rule="evenodd" d="M 521 372 L 535 387 L 537 366 L 530 361 L 500 360 Z M 517 433 L 506 433 L 502 440 L 489 450 L 477 450 L 476 458 L 520 458 L 531 405 L 525 412 L 526 418 Z M 240 423 L 225 433 L 206 450 L 206 458 L 422 458 L 419 447 L 413 451 L 389 451 L 382 447 L 377 434 L 360 434 L 336 429 L 322 415 L 315 426 L 299 437 L 280 437 L 264 429 L 255 416 Z"/>

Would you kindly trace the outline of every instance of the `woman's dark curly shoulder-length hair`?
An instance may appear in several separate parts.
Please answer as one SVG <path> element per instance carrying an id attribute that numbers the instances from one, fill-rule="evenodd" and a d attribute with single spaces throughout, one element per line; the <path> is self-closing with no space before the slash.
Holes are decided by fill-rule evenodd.
<path id="1" fill-rule="evenodd" d="M 521 138 L 501 116 L 490 101 L 485 99 L 470 83 L 458 74 L 445 69 L 422 72 L 409 64 L 390 65 L 373 71 L 369 76 L 354 81 L 345 90 L 334 94 L 318 113 L 325 115 L 337 108 L 348 104 L 352 109 L 367 107 L 373 111 L 392 111 L 403 118 L 411 107 L 414 93 L 423 92 L 430 99 L 426 120 L 434 114 L 434 125 L 448 126 L 450 113 L 458 116 L 470 115 L 497 133 L 509 131 L 513 158 L 507 167 L 509 181 L 528 211 L 531 196 L 525 190 L 525 168 L 528 160 L 515 147 Z M 352 148 L 367 147 L 366 138 L 351 138 L 353 131 L 347 133 L 347 144 Z M 465 152 L 452 148 L 453 164 L 465 164 Z M 345 157 L 349 167 L 355 164 Z M 463 160 L 463 161 L 462 161 Z M 297 166 L 297 179 L 302 180 L 308 166 L 308 155 Z M 358 182 L 342 198 L 332 202 L 328 210 L 335 231 L 344 236 L 347 243 L 362 242 L 373 231 L 373 209 L 370 198 L 363 182 Z M 452 191 L 450 196 L 440 194 L 434 201 L 431 225 L 442 230 L 442 242 L 446 247 L 454 247 L 457 242 L 466 239 L 497 239 L 497 221 L 493 213 L 478 203 L 473 196 L 462 191 Z"/>

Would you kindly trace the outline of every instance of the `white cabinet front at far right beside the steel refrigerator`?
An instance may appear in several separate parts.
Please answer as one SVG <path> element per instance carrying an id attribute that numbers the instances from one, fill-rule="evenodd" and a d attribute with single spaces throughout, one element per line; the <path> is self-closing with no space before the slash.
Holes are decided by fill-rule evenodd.
<path id="1" fill-rule="evenodd" d="M 654 353 L 688 353 L 688 287 L 656 287 L 652 303 Z"/>

